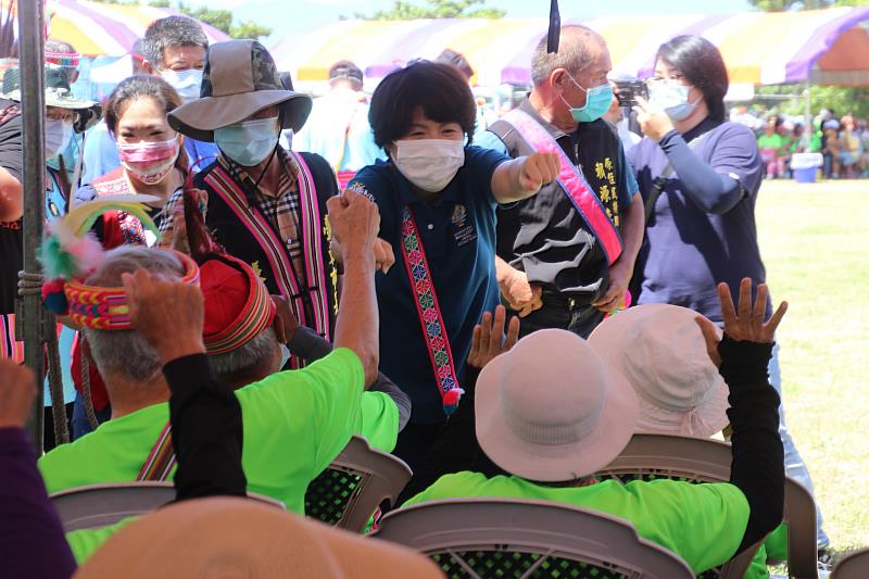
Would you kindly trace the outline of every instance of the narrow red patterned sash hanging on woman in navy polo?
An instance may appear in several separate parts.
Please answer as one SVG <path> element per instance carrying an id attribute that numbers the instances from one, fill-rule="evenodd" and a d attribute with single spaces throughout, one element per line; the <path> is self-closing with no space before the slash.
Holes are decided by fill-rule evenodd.
<path id="1" fill-rule="evenodd" d="M 429 273 L 426 250 L 419 239 L 419 230 L 411 207 L 407 206 L 404 207 L 402 217 L 401 238 L 404 266 L 407 268 L 407 279 L 413 286 L 414 303 L 423 327 L 431 369 L 434 370 L 434 378 L 438 380 L 443 412 L 449 416 L 455 412 L 458 400 L 465 391 L 458 386 L 450 337 L 446 335 L 438 293 L 434 291 L 434 282 Z"/>

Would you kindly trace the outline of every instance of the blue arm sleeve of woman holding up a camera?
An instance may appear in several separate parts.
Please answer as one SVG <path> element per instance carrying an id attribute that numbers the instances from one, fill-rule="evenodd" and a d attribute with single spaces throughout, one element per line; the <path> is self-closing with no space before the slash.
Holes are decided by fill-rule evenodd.
<path id="1" fill-rule="evenodd" d="M 742 200 L 740 181 L 706 164 L 676 129 L 665 135 L 658 144 L 679 175 L 682 191 L 706 213 L 727 213 Z"/>

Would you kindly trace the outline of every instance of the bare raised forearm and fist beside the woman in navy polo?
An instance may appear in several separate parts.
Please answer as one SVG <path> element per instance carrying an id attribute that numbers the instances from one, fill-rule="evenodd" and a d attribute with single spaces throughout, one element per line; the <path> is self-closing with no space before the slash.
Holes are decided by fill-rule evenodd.
<path id="1" fill-rule="evenodd" d="M 329 225 L 344 264 L 343 286 L 335 327 L 335 347 L 356 353 L 365 383 L 377 378 L 379 328 L 374 287 L 374 246 L 380 230 L 377 205 L 351 190 L 328 200 Z"/>

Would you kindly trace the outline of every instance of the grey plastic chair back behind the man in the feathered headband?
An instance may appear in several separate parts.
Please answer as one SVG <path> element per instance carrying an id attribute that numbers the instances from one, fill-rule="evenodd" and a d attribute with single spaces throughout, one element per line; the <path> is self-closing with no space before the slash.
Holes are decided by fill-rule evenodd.
<path id="1" fill-rule="evenodd" d="M 284 503 L 260 494 L 250 499 L 284 508 Z M 114 482 L 88 484 L 50 496 L 64 532 L 114 525 L 127 517 L 144 515 L 175 500 L 172 482 Z"/>

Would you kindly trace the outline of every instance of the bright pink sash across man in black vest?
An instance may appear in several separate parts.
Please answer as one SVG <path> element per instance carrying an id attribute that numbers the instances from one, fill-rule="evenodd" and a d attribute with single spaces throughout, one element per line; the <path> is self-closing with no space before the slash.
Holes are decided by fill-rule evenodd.
<path id="1" fill-rule="evenodd" d="M 567 158 L 562 147 L 552 138 L 552 135 L 531 118 L 528 113 L 514 109 L 502 116 L 501 119 L 513 126 L 534 151 L 558 154 L 562 162 L 562 171 L 558 173 L 558 186 L 589 226 L 589 230 L 597 239 L 609 265 L 613 265 L 621 255 L 621 234 L 606 215 L 606 207 L 594 194 L 582 173 Z"/>

